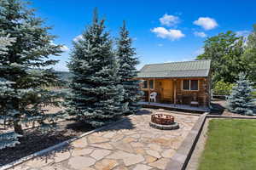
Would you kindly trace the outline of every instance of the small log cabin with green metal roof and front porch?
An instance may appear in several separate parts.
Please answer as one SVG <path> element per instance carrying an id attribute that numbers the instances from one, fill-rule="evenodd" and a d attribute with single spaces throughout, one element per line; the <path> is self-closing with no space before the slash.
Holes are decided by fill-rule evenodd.
<path id="1" fill-rule="evenodd" d="M 143 101 L 206 108 L 211 102 L 210 70 L 210 59 L 144 65 L 137 76 Z"/>

